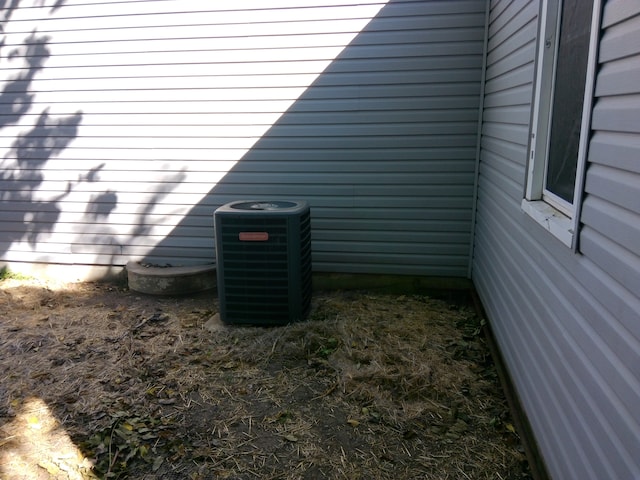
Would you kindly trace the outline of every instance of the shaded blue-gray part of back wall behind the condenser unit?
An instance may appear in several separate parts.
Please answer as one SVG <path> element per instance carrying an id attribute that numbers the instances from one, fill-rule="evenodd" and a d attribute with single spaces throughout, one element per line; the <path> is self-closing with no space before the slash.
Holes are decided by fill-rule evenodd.
<path id="1" fill-rule="evenodd" d="M 305 199 L 316 270 L 465 276 L 483 26 L 484 2 L 388 3 L 146 261 L 213 261 L 191 229 L 224 203 Z"/>

